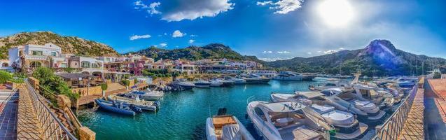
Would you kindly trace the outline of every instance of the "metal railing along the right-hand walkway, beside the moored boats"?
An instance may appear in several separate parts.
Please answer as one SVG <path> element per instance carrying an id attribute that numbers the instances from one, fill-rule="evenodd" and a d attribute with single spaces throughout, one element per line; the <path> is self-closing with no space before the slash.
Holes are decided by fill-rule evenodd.
<path id="1" fill-rule="evenodd" d="M 415 94 L 417 94 L 418 85 L 415 84 L 410 93 L 403 99 L 403 103 L 390 116 L 383 125 L 377 127 L 376 135 L 373 140 L 398 139 L 400 132 L 403 130 L 410 108 L 414 102 Z"/>

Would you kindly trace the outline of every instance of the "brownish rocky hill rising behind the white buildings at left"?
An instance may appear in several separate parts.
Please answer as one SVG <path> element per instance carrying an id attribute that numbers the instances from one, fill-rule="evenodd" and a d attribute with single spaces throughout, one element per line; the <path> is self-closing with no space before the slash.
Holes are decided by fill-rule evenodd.
<path id="1" fill-rule="evenodd" d="M 63 53 L 83 56 L 118 56 L 109 45 L 75 36 L 60 36 L 50 31 L 23 32 L 0 38 L 0 59 L 8 58 L 8 49 L 17 45 L 54 43 Z"/>

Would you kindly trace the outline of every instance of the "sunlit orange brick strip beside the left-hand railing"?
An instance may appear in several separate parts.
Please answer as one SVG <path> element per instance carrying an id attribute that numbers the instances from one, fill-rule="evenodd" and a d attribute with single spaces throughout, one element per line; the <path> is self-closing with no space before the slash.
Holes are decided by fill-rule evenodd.
<path id="1" fill-rule="evenodd" d="M 42 125 L 36 116 L 29 90 L 22 85 L 19 87 L 17 139 L 43 139 Z"/>

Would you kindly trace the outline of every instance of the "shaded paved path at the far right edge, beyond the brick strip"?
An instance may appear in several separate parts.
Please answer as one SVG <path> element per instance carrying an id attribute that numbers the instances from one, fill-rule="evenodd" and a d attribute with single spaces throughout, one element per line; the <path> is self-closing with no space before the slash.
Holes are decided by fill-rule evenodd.
<path id="1" fill-rule="evenodd" d="M 446 124 L 442 120 L 437 94 L 428 82 L 424 83 L 424 135 L 426 139 L 446 139 Z M 443 113 L 444 114 L 444 113 Z"/>

